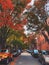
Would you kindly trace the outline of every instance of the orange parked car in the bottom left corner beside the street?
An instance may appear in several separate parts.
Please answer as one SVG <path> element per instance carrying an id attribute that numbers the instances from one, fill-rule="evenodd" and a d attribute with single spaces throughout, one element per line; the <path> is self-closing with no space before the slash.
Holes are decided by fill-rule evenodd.
<path id="1" fill-rule="evenodd" d="M 13 59 L 13 55 L 9 52 L 8 49 L 0 50 L 0 63 L 8 64 Z"/>

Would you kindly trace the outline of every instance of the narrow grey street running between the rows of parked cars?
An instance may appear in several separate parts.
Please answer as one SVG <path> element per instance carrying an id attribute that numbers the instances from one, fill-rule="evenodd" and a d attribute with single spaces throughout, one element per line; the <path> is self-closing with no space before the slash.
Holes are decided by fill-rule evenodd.
<path id="1" fill-rule="evenodd" d="M 10 65 L 41 65 L 37 58 L 33 58 L 29 53 L 22 53 L 14 63 Z"/>

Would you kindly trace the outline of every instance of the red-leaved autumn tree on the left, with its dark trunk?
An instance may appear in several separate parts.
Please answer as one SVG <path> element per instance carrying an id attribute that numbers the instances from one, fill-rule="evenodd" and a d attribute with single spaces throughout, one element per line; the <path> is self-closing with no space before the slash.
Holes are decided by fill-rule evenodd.
<path id="1" fill-rule="evenodd" d="M 2 46 L 5 46 L 6 39 L 12 34 L 12 29 L 22 30 L 22 24 L 17 24 L 19 21 L 12 1 L 0 0 L 0 44 Z"/>

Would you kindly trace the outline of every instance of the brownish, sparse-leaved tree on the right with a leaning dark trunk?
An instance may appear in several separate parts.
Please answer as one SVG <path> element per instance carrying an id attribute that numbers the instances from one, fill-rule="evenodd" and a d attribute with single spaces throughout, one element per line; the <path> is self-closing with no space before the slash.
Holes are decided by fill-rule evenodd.
<path id="1" fill-rule="evenodd" d="M 49 36 L 49 26 L 46 24 L 46 19 L 49 17 L 45 11 L 46 3 L 47 0 L 35 0 L 33 6 L 29 9 L 26 9 L 26 11 L 23 13 L 23 16 L 27 15 L 27 30 L 37 33 L 41 32 L 46 41 L 49 43 L 49 38 L 44 33 L 47 31 Z"/>

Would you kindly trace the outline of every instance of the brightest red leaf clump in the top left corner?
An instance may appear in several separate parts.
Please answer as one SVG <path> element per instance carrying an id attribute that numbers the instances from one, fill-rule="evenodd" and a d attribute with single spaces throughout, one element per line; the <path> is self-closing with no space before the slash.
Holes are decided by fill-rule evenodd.
<path id="1" fill-rule="evenodd" d="M 14 5 L 12 4 L 11 0 L 0 0 L 0 4 L 4 10 L 13 9 Z"/>

